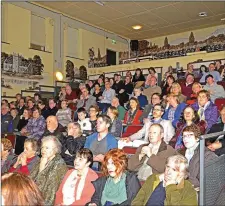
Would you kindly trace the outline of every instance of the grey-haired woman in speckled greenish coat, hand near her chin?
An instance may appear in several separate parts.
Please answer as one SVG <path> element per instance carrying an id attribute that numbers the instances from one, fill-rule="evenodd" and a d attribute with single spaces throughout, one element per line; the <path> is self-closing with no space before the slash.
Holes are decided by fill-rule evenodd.
<path id="1" fill-rule="evenodd" d="M 67 172 L 67 166 L 60 156 L 61 143 L 55 136 L 42 139 L 41 159 L 34 166 L 30 177 L 44 195 L 46 205 L 53 205 L 55 194 Z"/>

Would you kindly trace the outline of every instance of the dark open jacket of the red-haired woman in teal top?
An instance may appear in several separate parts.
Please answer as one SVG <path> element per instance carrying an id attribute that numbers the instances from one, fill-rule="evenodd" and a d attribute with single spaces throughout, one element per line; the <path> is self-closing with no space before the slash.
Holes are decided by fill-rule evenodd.
<path id="1" fill-rule="evenodd" d="M 100 177 L 93 182 L 93 185 L 95 187 L 95 193 L 91 198 L 91 203 L 95 203 L 97 206 L 102 206 L 101 198 L 102 198 L 102 192 L 104 190 L 106 181 L 107 181 L 107 177 Z M 127 200 L 122 202 L 121 204 L 116 204 L 116 205 L 117 206 L 131 205 L 132 200 L 136 197 L 140 188 L 141 188 L 141 184 L 137 178 L 136 173 L 127 172 L 127 175 L 126 175 Z"/>

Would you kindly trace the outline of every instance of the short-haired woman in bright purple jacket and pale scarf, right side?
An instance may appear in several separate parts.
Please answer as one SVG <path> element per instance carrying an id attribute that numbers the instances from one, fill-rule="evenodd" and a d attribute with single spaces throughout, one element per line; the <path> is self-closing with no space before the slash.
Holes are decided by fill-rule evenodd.
<path id="1" fill-rule="evenodd" d="M 206 132 L 208 132 L 212 125 L 216 124 L 218 120 L 217 106 L 211 102 L 209 92 L 201 90 L 198 93 L 197 102 L 194 103 L 192 107 L 198 112 L 200 120 L 206 121 Z"/>

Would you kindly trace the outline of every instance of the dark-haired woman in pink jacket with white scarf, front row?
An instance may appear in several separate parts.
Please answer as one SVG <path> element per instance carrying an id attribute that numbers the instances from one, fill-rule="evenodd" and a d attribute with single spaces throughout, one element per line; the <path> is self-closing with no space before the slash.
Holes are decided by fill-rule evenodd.
<path id="1" fill-rule="evenodd" d="M 55 206 L 85 205 L 91 201 L 95 192 L 92 184 L 98 178 L 90 166 L 93 154 L 89 149 L 80 149 L 76 153 L 74 169 L 69 170 L 56 193 Z"/>

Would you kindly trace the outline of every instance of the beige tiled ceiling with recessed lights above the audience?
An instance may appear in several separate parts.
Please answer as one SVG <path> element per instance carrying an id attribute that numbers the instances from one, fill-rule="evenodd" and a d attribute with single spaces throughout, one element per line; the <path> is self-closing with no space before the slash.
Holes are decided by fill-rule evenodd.
<path id="1" fill-rule="evenodd" d="M 129 39 L 148 39 L 225 24 L 223 2 L 37 2 Z M 199 17 L 207 12 L 207 17 Z M 133 25 L 142 29 L 133 30 Z"/>

